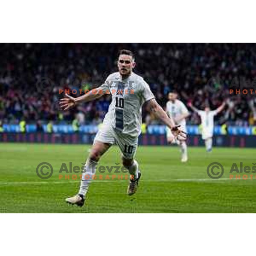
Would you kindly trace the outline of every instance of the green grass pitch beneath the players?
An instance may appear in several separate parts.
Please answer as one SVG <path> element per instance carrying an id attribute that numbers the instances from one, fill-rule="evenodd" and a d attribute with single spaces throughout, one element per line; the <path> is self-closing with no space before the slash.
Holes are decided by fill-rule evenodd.
<path id="1" fill-rule="evenodd" d="M 256 174 L 253 180 L 228 179 L 233 162 L 244 166 L 256 162 L 255 149 L 248 148 L 213 148 L 207 153 L 191 147 L 188 163 L 180 163 L 175 146 L 140 146 L 136 158 L 143 176 L 135 195 L 126 195 L 128 180 L 99 180 L 90 184 L 84 207 L 68 205 L 64 199 L 76 194 L 79 180 L 60 180 L 61 163 L 81 166 L 89 148 L 0 143 L 0 212 L 256 212 Z M 36 175 L 41 162 L 53 166 L 48 180 Z M 212 162 L 224 166 L 219 180 L 207 176 Z M 120 163 L 116 146 L 100 161 L 101 165 L 115 163 Z"/>

